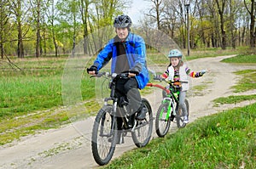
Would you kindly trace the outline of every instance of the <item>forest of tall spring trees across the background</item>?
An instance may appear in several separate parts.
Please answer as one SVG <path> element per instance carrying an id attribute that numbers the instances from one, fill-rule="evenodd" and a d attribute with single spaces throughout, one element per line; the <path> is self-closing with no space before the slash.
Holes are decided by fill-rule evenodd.
<path id="1" fill-rule="evenodd" d="M 255 48 L 255 0 L 144 1 L 151 6 L 144 12 L 140 25 L 131 27 L 131 31 L 159 30 L 180 48 L 188 48 L 188 39 L 191 49 Z M 131 3 L 131 0 L 1 0 L 0 57 L 58 57 L 73 53 L 81 42 L 84 54 L 91 54 L 95 43 L 102 46 L 104 39 L 113 36 L 114 17 L 125 14 Z M 98 31 L 106 27 L 108 31 Z M 96 31 L 98 37 L 91 39 L 89 35 Z"/>

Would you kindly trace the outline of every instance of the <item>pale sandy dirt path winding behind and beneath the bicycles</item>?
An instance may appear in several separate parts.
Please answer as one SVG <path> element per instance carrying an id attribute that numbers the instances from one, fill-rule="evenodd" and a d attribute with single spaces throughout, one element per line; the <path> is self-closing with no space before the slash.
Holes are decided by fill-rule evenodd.
<path id="1" fill-rule="evenodd" d="M 192 87 L 204 85 L 207 88 L 203 92 L 189 94 L 190 121 L 235 106 L 253 104 L 253 101 L 251 101 L 218 108 L 212 107 L 212 99 L 233 94 L 230 87 L 236 83 L 236 76 L 232 72 L 255 69 L 253 66 L 237 66 L 219 62 L 221 59 L 228 57 L 230 56 L 197 59 L 188 63 L 191 70 L 206 68 L 210 70 L 206 76 L 191 81 Z M 253 93 L 256 92 L 253 91 Z M 154 94 L 148 98 L 154 110 L 157 110 L 159 106 L 159 96 L 160 91 L 155 90 Z M 10 147 L 0 147 L 0 168 L 96 168 L 97 165 L 90 150 L 90 132 L 93 120 L 94 117 L 90 117 L 85 121 L 78 121 L 67 127 L 23 138 Z M 175 129 L 176 127 L 172 124 L 172 131 Z M 155 132 L 154 137 L 156 137 Z M 133 148 L 136 147 L 131 138 L 125 138 L 125 144 L 117 146 L 114 158 Z"/>

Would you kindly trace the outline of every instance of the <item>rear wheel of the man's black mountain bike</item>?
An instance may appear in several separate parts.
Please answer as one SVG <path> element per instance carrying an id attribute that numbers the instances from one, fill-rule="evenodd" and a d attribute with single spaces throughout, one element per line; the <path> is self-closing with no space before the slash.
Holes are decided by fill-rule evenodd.
<path id="1" fill-rule="evenodd" d="M 148 109 L 146 118 L 143 121 L 137 121 L 135 130 L 131 132 L 131 138 L 138 148 L 144 147 L 148 144 L 153 130 L 153 115 L 151 106 L 147 99 L 142 99 L 142 102 Z"/>

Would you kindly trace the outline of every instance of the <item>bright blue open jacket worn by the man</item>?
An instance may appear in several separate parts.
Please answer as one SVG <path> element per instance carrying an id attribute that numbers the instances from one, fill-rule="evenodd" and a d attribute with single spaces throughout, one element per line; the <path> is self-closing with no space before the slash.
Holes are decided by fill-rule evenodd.
<path id="1" fill-rule="evenodd" d="M 106 47 L 97 55 L 94 65 L 96 65 L 98 70 L 102 69 L 102 67 L 112 59 L 111 72 L 114 72 L 117 60 L 117 49 L 114 42 L 115 38 L 111 39 Z M 143 89 L 149 80 L 146 62 L 146 46 L 143 38 L 129 32 L 125 40 L 125 50 L 130 70 L 137 70 L 139 72 L 136 76 L 138 88 Z"/>

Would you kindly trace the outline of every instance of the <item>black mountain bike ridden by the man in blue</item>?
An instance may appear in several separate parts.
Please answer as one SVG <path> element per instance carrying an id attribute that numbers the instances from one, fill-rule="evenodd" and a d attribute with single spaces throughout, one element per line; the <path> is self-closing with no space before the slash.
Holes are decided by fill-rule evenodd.
<path id="1" fill-rule="evenodd" d="M 144 108 L 148 111 L 145 119 L 138 121 L 135 114 L 131 115 L 128 112 L 125 99 L 119 99 L 115 96 L 116 82 L 119 79 L 130 78 L 128 77 L 129 72 L 134 73 L 132 71 L 125 71 L 119 75 L 112 75 L 112 80 L 109 82 L 111 89 L 110 97 L 104 99 L 104 105 L 98 111 L 94 121 L 91 136 L 91 150 L 96 163 L 101 166 L 108 164 L 112 159 L 116 144 L 124 143 L 124 137 L 127 135 L 127 132 L 131 132 L 131 138 L 139 148 L 146 146 L 151 138 L 153 115 L 148 100 L 142 99 Z M 109 77 L 106 73 L 98 73 L 96 76 Z M 121 118 L 122 120 L 121 129 L 117 128 L 117 118 Z M 119 143 L 117 143 L 119 140 L 118 134 L 120 135 Z"/>

